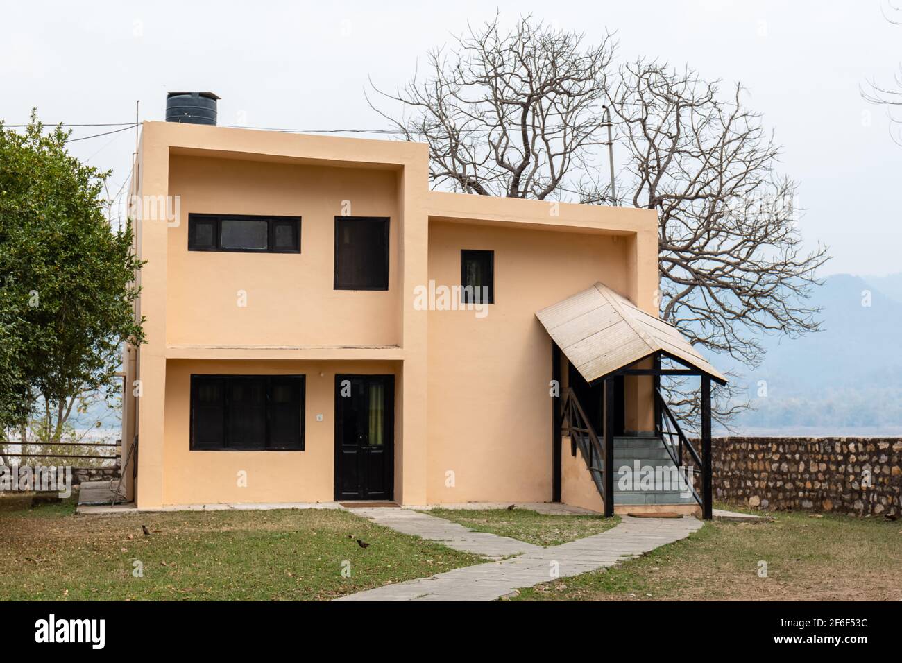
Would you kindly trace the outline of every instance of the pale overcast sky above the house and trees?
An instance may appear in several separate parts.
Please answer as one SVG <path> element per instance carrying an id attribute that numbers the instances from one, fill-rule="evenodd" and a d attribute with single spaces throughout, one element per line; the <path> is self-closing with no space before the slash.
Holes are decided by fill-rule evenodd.
<path id="1" fill-rule="evenodd" d="M 887 0 L 859 2 L 498 2 L 502 19 L 532 13 L 596 41 L 616 31 L 623 57 L 689 64 L 740 80 L 748 104 L 785 146 L 801 182 L 805 239 L 830 245 L 834 272 L 902 272 L 898 175 L 902 147 L 886 112 L 859 86 L 889 82 L 902 26 Z M 85 5 L 85 6 L 80 6 Z M 25 122 L 161 120 L 168 90 L 210 90 L 220 124 L 384 128 L 366 105 L 367 75 L 394 87 L 429 48 L 483 23 L 486 2 L 26 2 L 3 7 L 0 118 Z M 78 135 L 103 129 L 83 128 Z M 72 143 L 72 152 L 128 176 L 133 132 Z"/>

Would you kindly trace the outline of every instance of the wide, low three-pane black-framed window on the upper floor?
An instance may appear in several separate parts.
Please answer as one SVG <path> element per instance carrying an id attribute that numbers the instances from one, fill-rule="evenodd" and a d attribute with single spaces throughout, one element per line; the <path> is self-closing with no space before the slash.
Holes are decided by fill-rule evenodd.
<path id="1" fill-rule="evenodd" d="M 300 253 L 300 216 L 189 214 L 188 250 Z"/>

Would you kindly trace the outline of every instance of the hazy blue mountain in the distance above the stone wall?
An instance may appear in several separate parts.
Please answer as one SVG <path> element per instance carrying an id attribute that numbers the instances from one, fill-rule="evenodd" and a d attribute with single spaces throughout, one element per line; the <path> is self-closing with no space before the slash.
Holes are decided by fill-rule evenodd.
<path id="1" fill-rule="evenodd" d="M 880 290 L 897 288 L 899 299 Z M 902 274 L 881 280 L 828 277 L 812 303 L 823 307 L 823 330 L 800 338 L 766 336 L 768 352 L 744 374 L 756 410 L 737 421 L 741 432 L 812 435 L 902 434 Z M 760 382 L 764 381 L 764 382 Z M 762 387 L 766 396 L 759 396 Z"/>

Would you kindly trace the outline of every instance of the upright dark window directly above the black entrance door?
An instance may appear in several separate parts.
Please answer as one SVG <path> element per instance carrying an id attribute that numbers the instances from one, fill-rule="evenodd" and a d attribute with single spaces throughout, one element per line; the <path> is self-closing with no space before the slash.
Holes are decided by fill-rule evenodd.
<path id="1" fill-rule="evenodd" d="M 389 289 L 389 219 L 336 216 L 335 290 Z"/>

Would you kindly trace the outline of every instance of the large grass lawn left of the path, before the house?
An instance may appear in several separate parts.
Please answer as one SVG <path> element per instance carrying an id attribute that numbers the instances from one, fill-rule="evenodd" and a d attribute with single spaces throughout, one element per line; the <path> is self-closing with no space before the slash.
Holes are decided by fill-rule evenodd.
<path id="1" fill-rule="evenodd" d="M 484 561 L 347 511 L 78 516 L 74 498 L 30 510 L 3 506 L 3 601 L 327 600 Z M 133 576 L 135 561 L 143 577 Z"/>

